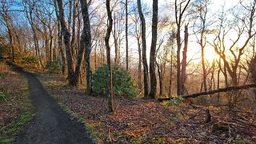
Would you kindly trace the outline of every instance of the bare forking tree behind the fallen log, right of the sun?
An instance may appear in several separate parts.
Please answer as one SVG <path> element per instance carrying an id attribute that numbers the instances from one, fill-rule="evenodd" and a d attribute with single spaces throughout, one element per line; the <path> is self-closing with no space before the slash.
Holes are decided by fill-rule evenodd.
<path id="1" fill-rule="evenodd" d="M 234 57 L 234 61 L 230 62 L 232 61 L 232 59 L 228 59 L 224 51 L 226 49 L 226 46 L 224 44 L 224 39 L 226 34 L 228 34 L 226 31 L 229 31 L 229 30 L 224 30 L 222 34 L 222 38 L 220 38 L 220 34 L 218 34 L 218 36 L 214 39 L 214 44 L 211 44 L 212 46 L 214 46 L 215 52 L 220 56 L 220 58 L 222 58 L 222 61 L 226 65 L 226 70 L 230 74 L 230 78 L 232 80 L 233 86 L 238 86 L 237 70 L 243 54 L 243 50 L 246 48 L 247 44 L 250 42 L 250 39 L 253 38 L 255 34 L 253 33 L 253 24 L 254 24 L 255 10 L 256 10 L 256 2 L 252 2 L 250 6 L 246 6 L 246 7 L 242 6 L 242 7 L 244 7 L 244 9 L 249 12 L 248 14 L 249 17 L 246 15 L 243 18 L 236 18 L 237 22 L 241 20 L 242 26 L 238 26 L 239 25 L 238 23 L 236 24 L 236 26 L 234 26 L 236 28 L 235 31 L 237 32 L 238 37 L 235 38 L 232 44 L 228 47 L 228 49 L 230 50 L 230 53 Z M 222 25 L 220 27 L 222 27 Z M 220 28 L 220 30 L 222 29 L 224 28 L 223 27 Z M 233 28 L 230 27 L 229 29 L 231 30 Z M 219 31 L 219 33 L 221 32 Z M 238 42 L 241 41 L 242 34 L 245 34 L 245 33 L 247 33 L 245 42 L 243 42 L 242 46 L 238 50 L 235 50 L 237 48 Z M 221 50 L 220 46 L 222 46 L 224 50 Z M 238 54 L 236 54 L 235 51 L 238 51 Z"/>

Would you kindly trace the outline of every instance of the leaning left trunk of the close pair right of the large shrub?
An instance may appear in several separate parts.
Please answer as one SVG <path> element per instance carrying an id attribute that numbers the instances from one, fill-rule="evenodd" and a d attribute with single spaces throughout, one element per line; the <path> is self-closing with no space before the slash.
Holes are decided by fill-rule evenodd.
<path id="1" fill-rule="evenodd" d="M 149 78 L 148 78 L 148 66 L 146 61 L 146 22 L 142 13 L 141 0 L 137 0 L 138 14 L 142 25 L 142 63 L 143 63 L 143 75 L 144 75 L 144 97 L 147 98 L 149 94 Z"/>

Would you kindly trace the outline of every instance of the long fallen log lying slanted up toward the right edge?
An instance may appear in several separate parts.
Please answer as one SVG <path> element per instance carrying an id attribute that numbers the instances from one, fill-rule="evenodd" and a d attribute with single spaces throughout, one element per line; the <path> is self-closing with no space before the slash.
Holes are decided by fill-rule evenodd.
<path id="1" fill-rule="evenodd" d="M 215 93 L 222 93 L 230 90 L 246 90 L 256 87 L 256 83 L 250 84 L 250 85 L 243 85 L 243 86 L 229 86 L 226 88 L 218 89 L 218 90 L 210 90 L 202 93 L 196 93 L 196 94 L 189 94 L 189 95 L 184 95 L 182 98 L 196 98 L 201 95 L 208 95 L 208 94 L 215 94 Z"/>

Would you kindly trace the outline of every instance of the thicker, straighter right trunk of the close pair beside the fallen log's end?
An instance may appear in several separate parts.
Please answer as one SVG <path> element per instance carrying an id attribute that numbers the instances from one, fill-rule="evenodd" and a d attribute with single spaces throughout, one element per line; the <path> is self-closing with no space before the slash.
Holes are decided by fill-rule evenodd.
<path id="1" fill-rule="evenodd" d="M 158 0 L 153 0 L 152 39 L 150 48 L 150 98 L 155 98 L 157 78 L 155 76 L 155 50 L 158 41 Z"/>

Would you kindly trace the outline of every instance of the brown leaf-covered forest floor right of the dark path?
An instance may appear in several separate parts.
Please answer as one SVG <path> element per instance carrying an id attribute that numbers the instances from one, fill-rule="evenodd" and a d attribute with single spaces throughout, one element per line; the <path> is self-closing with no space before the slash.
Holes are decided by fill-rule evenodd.
<path id="1" fill-rule="evenodd" d="M 38 78 L 66 111 L 85 122 L 98 143 L 256 143 L 255 110 L 234 119 L 215 106 L 164 106 L 152 99 L 115 98 L 116 110 L 109 113 L 106 96 L 69 88 L 58 74 L 38 73 Z"/>

